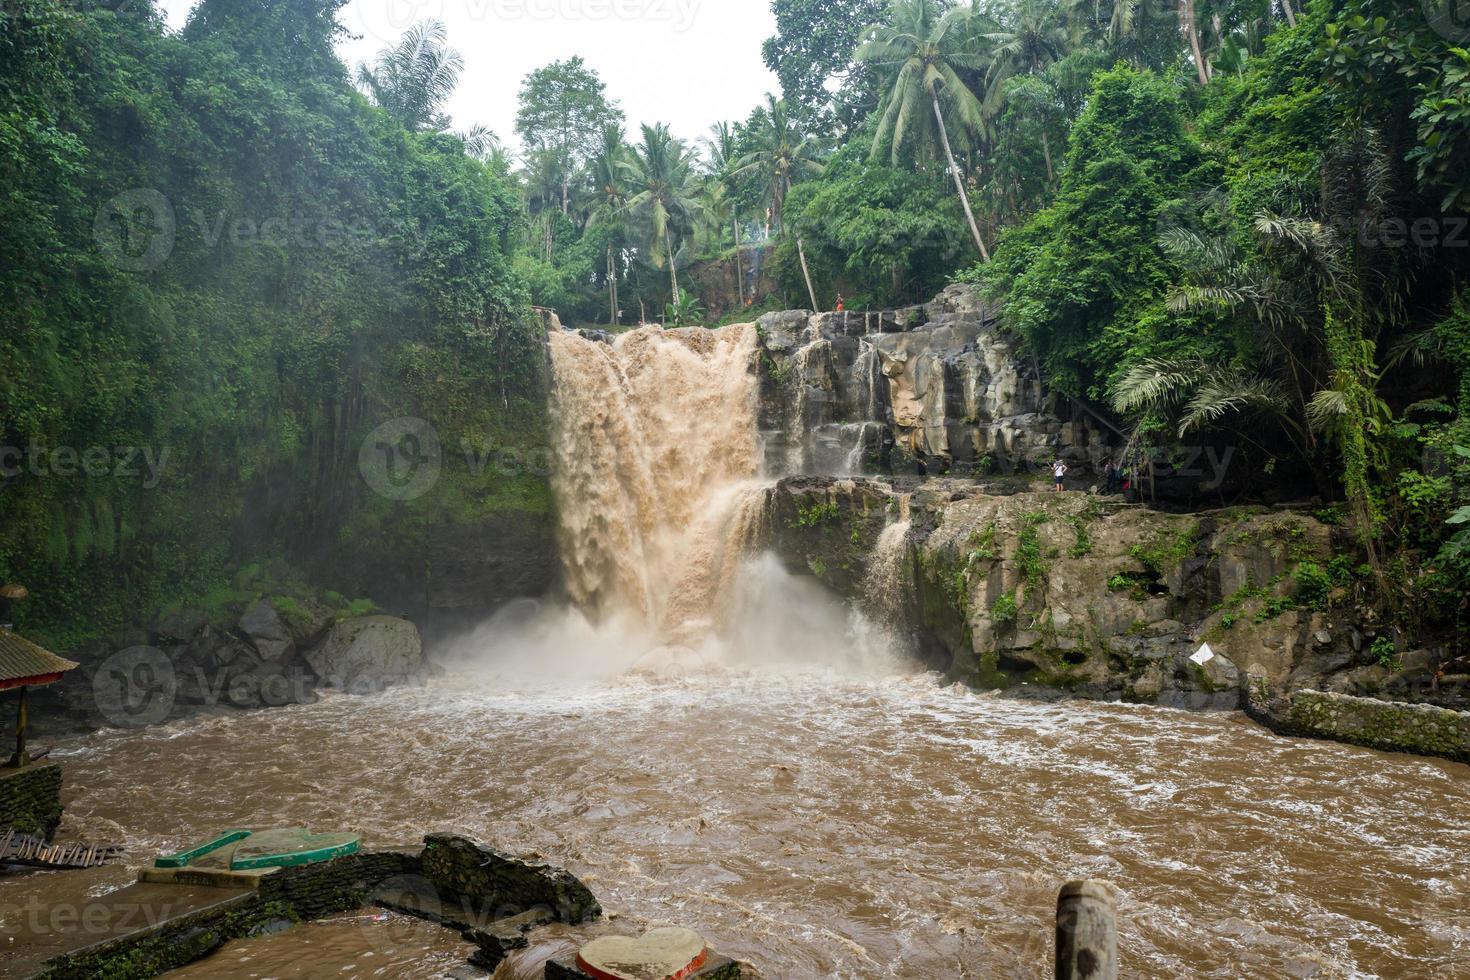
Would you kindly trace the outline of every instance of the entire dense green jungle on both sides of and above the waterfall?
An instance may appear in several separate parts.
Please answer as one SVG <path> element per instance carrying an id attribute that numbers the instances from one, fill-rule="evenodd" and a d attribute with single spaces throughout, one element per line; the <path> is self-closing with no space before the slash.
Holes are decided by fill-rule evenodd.
<path id="1" fill-rule="evenodd" d="M 178 35 L 112 6 L 0 12 L 0 577 L 37 623 L 544 508 L 535 476 L 412 505 L 351 479 L 394 416 L 534 445 L 529 304 L 697 323 L 960 278 L 1130 457 L 1238 450 L 1232 492 L 1319 497 L 1354 594 L 1464 644 L 1470 32 L 1442 4 L 773 0 L 782 93 L 745 119 L 629 134 L 573 57 L 526 78 L 516 160 L 451 131 L 434 24 L 354 88 L 341 0 L 204 0 Z M 166 448 L 165 478 L 53 475 L 94 445 Z"/>

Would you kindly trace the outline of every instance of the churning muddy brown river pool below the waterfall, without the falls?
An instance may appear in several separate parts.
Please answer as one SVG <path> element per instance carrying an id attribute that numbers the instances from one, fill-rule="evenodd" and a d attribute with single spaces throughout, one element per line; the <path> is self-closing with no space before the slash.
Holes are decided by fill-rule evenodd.
<path id="1" fill-rule="evenodd" d="M 451 676 L 56 755 L 66 836 L 144 858 L 241 824 L 370 845 L 457 830 L 566 865 L 617 929 L 689 926 L 763 977 L 1047 976 L 1073 877 L 1117 886 L 1132 977 L 1470 976 L 1470 768 L 1233 714 L 928 674 L 542 692 Z M 62 887 L 37 882 L 0 882 L 0 904 Z M 368 914 L 232 943 L 187 976 L 429 977 L 467 951 Z"/>

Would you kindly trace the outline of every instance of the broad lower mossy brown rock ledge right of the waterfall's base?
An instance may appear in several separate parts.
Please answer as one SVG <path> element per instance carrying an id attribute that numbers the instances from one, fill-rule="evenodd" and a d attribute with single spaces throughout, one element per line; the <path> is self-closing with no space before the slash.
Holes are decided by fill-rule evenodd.
<path id="1" fill-rule="evenodd" d="M 901 619 L 976 686 L 1235 708 L 1247 685 L 1286 695 L 1370 660 L 1323 591 L 1332 529 L 1304 514 L 1167 514 L 957 479 L 789 479 L 770 508 L 788 567 L 869 602 L 879 538 L 907 520 Z M 1192 661 L 1204 644 L 1214 657 Z"/>

